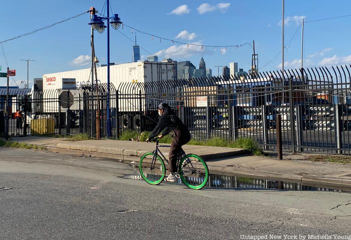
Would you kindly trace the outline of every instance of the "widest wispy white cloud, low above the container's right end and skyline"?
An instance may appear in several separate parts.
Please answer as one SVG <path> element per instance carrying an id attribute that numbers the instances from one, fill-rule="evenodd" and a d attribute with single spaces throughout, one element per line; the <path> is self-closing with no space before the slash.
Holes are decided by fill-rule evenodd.
<path id="1" fill-rule="evenodd" d="M 201 44 L 201 42 L 194 42 L 194 44 Z M 180 46 L 172 45 L 166 49 L 157 51 L 154 55 L 164 56 L 164 57 L 173 57 L 173 58 L 188 58 L 192 55 L 198 53 L 204 53 L 206 48 L 201 46 L 183 44 Z"/>

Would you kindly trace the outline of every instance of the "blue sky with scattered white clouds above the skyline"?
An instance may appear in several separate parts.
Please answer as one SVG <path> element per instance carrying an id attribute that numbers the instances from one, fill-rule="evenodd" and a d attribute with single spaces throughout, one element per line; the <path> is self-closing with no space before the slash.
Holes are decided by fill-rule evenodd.
<path id="1" fill-rule="evenodd" d="M 102 13 L 104 3 L 105 0 L 2 0 L 0 42 L 78 15 L 90 6 Z M 110 0 L 110 5 L 111 12 L 118 13 L 121 21 L 135 29 L 204 45 L 240 45 L 255 40 L 260 70 L 277 69 L 281 63 L 281 54 L 278 54 L 281 50 L 281 0 Z M 348 44 L 351 16 L 313 21 L 348 15 L 350 9 L 349 0 L 285 0 L 285 68 L 300 65 L 301 28 L 298 27 L 301 17 L 307 21 L 304 28 L 306 66 L 351 63 Z M 44 73 L 89 67 L 89 21 L 86 13 L 2 43 L 6 56 L 5 59 L 0 47 L 2 72 L 8 65 L 17 70 L 10 85 L 15 85 L 14 80 L 18 85 L 27 80 L 27 63 L 21 59 L 35 60 L 30 62 L 30 85 L 31 79 L 42 77 Z M 135 30 L 126 26 L 119 30 L 110 30 L 111 62 L 130 62 L 133 45 L 130 39 L 134 39 Z M 174 60 L 191 60 L 199 67 L 203 56 L 214 75 L 218 72 L 215 65 L 229 66 L 229 62 L 237 61 L 240 68 L 248 70 L 251 64 L 250 45 L 227 49 L 188 47 L 139 32 L 136 34 L 137 43 L 146 50 L 141 49 L 143 58 L 149 53 L 157 53 L 159 59 L 166 56 Z M 100 63 L 106 63 L 106 42 L 107 31 L 102 34 L 95 31 L 95 50 Z M 0 85 L 6 85 L 6 78 L 0 78 Z"/>

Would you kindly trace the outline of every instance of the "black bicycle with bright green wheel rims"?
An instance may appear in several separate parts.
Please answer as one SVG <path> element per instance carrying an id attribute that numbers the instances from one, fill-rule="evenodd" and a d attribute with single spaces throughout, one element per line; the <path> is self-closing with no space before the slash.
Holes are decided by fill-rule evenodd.
<path id="1" fill-rule="evenodd" d="M 156 142 L 156 149 L 140 157 L 139 171 L 147 183 L 157 185 L 164 180 L 166 174 L 164 162 L 169 164 L 159 147 L 170 147 L 170 145 L 159 145 L 159 138 L 151 141 Z M 177 178 L 181 178 L 182 182 L 191 189 L 201 189 L 209 180 L 209 168 L 204 159 L 196 154 L 186 154 L 183 148 L 177 159 L 177 169 Z"/>

